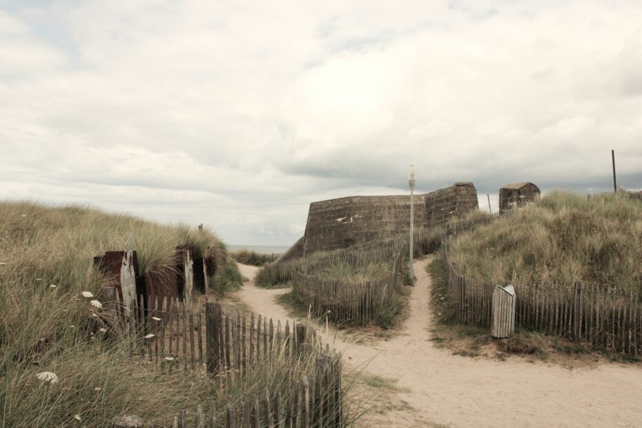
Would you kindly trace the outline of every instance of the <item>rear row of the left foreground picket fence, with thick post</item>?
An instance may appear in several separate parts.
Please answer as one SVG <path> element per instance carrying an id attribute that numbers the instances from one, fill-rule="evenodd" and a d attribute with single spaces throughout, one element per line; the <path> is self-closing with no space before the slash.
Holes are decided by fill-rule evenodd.
<path id="1" fill-rule="evenodd" d="M 119 328 L 132 338 L 134 355 L 163 364 L 169 369 L 220 369 L 244 375 L 251 364 L 300 358 L 310 339 L 305 324 L 295 320 L 274 322 L 271 318 L 224 313 L 217 302 L 188 303 L 177 299 L 147 302 L 125 309 L 119 302 L 107 304 L 117 313 Z"/>

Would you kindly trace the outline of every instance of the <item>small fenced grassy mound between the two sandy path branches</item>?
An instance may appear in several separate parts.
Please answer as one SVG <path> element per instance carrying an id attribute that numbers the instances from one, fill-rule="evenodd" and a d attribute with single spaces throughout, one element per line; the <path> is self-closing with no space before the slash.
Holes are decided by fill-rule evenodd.
<path id="1" fill-rule="evenodd" d="M 319 251 L 266 264 L 259 286 L 291 286 L 283 303 L 337 325 L 391 327 L 400 312 L 407 244 L 403 238 Z"/>

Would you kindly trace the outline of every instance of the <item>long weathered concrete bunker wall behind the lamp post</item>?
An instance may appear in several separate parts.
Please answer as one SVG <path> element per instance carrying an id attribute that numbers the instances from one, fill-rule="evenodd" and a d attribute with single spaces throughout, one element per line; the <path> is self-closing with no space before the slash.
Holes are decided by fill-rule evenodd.
<path id="1" fill-rule="evenodd" d="M 414 196 L 416 227 L 436 226 L 478 208 L 472 183 Z M 310 204 L 303 253 L 345 248 L 409 230 L 410 196 L 351 196 Z"/>

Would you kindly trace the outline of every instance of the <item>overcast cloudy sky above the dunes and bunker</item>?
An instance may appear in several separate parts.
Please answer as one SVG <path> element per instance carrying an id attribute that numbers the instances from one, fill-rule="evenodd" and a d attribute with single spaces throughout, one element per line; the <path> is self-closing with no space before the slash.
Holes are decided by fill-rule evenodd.
<path id="1" fill-rule="evenodd" d="M 0 0 L 0 197 L 287 245 L 310 202 L 642 187 L 637 1 Z M 483 197 L 483 200 L 482 200 Z"/>

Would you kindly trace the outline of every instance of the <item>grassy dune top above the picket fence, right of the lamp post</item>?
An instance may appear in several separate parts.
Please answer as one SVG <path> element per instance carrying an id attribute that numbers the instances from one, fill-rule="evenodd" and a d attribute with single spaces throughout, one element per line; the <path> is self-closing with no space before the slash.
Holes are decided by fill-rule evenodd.
<path id="1" fill-rule="evenodd" d="M 642 203 L 554 191 L 511 215 L 462 233 L 449 257 L 471 282 L 642 291 Z"/>

